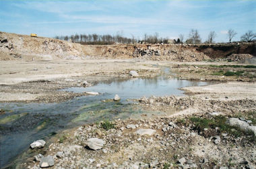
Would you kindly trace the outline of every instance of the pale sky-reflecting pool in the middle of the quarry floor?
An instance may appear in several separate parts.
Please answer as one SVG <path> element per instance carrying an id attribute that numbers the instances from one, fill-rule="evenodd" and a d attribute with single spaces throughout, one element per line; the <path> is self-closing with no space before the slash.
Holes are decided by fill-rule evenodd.
<path id="1" fill-rule="evenodd" d="M 119 95 L 122 100 L 139 99 L 143 96 L 167 96 L 183 95 L 184 91 L 179 90 L 183 87 L 203 86 L 207 82 L 179 80 L 178 78 L 168 78 L 168 73 L 164 72 L 161 76 L 155 78 L 126 78 L 113 79 L 98 84 L 93 87 L 71 87 L 62 89 L 73 93 L 98 92 L 107 96 L 107 99 Z"/>

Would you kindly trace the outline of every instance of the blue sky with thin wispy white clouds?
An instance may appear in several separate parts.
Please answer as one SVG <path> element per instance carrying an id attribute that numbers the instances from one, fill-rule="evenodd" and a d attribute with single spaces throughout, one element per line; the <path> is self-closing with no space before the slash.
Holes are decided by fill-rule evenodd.
<path id="1" fill-rule="evenodd" d="M 226 32 L 237 32 L 240 40 L 248 30 L 256 31 L 256 1 L 13 1 L 0 0 L 0 31 L 36 33 L 54 37 L 71 34 L 123 34 L 142 38 L 158 32 L 162 37 L 188 37 L 197 29 L 203 41 L 210 31 L 217 42 L 227 42 Z"/>

